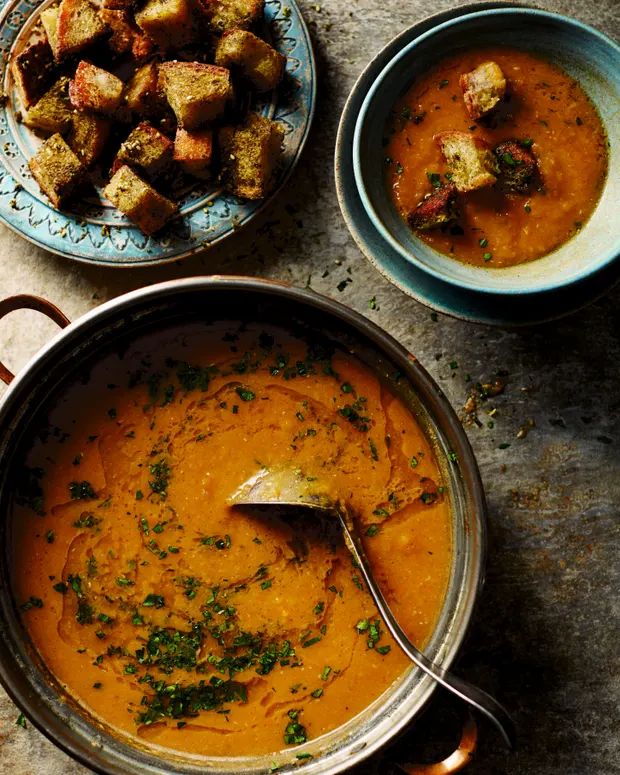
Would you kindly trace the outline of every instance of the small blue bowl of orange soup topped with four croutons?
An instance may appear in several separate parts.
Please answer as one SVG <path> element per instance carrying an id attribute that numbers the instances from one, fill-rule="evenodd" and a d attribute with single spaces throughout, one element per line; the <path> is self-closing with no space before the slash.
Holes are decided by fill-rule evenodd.
<path id="1" fill-rule="evenodd" d="M 472 12 L 404 46 L 369 89 L 353 167 L 366 215 L 455 286 L 531 294 L 620 253 L 620 49 L 529 8 Z"/>

